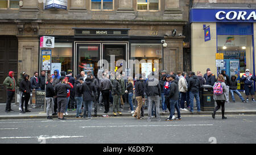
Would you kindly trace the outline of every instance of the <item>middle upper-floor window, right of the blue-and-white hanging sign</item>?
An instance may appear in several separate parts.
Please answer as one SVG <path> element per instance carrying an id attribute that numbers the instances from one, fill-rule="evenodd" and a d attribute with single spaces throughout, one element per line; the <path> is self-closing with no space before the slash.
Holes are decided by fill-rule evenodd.
<path id="1" fill-rule="evenodd" d="M 114 10 L 113 0 L 91 0 L 91 10 Z"/>

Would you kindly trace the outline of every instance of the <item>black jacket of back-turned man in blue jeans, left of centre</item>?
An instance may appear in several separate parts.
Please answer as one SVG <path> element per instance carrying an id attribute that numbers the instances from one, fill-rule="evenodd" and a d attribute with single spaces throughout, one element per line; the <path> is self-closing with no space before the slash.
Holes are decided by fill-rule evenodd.
<path id="1" fill-rule="evenodd" d="M 97 96 L 96 87 L 93 84 L 93 80 L 90 78 L 85 79 L 85 82 L 82 83 L 80 87 L 80 91 L 84 96 L 83 100 L 94 100 L 94 97 Z"/>

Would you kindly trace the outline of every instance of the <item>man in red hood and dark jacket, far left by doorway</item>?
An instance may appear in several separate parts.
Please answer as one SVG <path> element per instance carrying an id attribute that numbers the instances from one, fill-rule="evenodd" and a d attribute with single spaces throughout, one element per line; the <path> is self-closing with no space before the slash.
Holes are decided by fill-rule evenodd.
<path id="1" fill-rule="evenodd" d="M 7 89 L 7 101 L 6 101 L 5 113 L 14 112 L 11 109 L 11 100 L 13 100 L 13 97 L 15 95 L 15 87 L 16 87 L 13 71 L 9 72 L 9 77 L 5 78 L 5 81 L 3 81 L 3 85 L 5 85 Z"/>

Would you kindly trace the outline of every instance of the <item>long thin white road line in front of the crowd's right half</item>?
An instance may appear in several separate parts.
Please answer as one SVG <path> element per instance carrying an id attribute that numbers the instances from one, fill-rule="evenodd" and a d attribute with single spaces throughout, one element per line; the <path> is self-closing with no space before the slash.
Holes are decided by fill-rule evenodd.
<path id="1" fill-rule="evenodd" d="M 105 128 L 105 127 L 183 127 L 183 126 L 212 126 L 213 124 L 180 124 L 180 125 L 105 125 L 105 126 L 85 126 L 80 128 Z"/>

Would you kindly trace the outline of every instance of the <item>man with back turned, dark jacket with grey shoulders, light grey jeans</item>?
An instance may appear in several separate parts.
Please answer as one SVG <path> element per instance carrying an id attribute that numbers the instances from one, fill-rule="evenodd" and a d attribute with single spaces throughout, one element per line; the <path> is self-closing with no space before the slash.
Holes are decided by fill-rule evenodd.
<path id="1" fill-rule="evenodd" d="M 148 118 L 147 121 L 151 122 L 151 115 L 152 115 L 152 105 L 153 102 L 155 103 L 155 112 L 156 112 L 156 119 L 160 122 L 160 115 L 159 115 L 159 104 L 160 104 L 160 95 L 161 95 L 161 88 L 158 79 L 154 77 L 154 72 L 148 75 L 148 80 L 146 81 L 146 94 L 148 97 Z"/>

